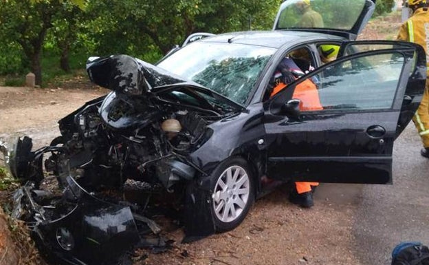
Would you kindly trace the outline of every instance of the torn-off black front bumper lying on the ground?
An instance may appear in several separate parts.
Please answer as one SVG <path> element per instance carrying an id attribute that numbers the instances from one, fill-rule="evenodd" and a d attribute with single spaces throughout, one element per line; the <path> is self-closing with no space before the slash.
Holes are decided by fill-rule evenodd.
<path id="1" fill-rule="evenodd" d="M 25 220 L 42 254 L 67 264 L 117 264 L 140 241 L 127 206 L 104 202 L 68 177 L 62 195 L 35 189 L 15 191 L 12 218 Z"/>

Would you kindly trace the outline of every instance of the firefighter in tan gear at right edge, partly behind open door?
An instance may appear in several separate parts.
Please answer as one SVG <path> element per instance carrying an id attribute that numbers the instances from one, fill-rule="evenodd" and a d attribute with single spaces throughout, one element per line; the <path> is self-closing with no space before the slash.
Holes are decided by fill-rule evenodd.
<path id="1" fill-rule="evenodd" d="M 426 62 L 429 63 L 429 0 L 408 0 L 413 14 L 399 29 L 398 40 L 410 41 L 421 45 L 426 51 Z M 428 64 L 429 65 L 429 64 Z M 429 68 L 428 68 L 429 70 Z M 429 158 L 429 82 L 415 116 L 412 118 L 423 141 L 421 156 Z"/>

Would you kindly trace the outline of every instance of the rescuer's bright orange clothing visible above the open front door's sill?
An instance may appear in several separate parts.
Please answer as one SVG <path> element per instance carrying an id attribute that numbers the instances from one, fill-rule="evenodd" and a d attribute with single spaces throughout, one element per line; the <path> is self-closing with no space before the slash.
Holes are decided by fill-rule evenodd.
<path id="1" fill-rule="evenodd" d="M 271 92 L 271 96 L 274 96 L 282 89 L 287 87 L 285 83 L 279 83 L 274 87 Z M 300 110 L 301 111 L 311 111 L 311 110 L 320 110 L 323 109 L 320 104 L 319 93 L 316 85 L 313 81 L 306 79 L 305 81 L 299 83 L 295 87 L 294 95 L 292 98 L 298 98 L 300 102 Z"/>

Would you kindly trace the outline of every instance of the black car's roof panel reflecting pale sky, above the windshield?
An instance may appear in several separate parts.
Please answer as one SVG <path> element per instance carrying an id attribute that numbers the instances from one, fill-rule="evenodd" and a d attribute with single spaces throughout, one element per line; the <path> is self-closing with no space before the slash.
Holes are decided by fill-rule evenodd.
<path id="1" fill-rule="evenodd" d="M 271 30 L 271 31 L 247 31 L 230 32 L 210 36 L 199 41 L 218 43 L 239 43 L 247 45 L 259 45 L 279 48 L 285 43 L 296 43 L 308 40 L 332 40 L 344 41 L 340 36 L 317 32 L 303 32 L 298 30 Z"/>

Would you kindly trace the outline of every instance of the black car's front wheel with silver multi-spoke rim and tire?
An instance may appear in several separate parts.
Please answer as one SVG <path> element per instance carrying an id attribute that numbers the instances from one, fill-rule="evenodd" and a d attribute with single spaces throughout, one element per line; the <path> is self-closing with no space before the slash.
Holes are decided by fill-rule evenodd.
<path id="1" fill-rule="evenodd" d="M 243 222 L 254 202 L 254 176 L 248 162 L 239 157 L 221 162 L 211 176 L 215 229 L 230 231 Z"/>

